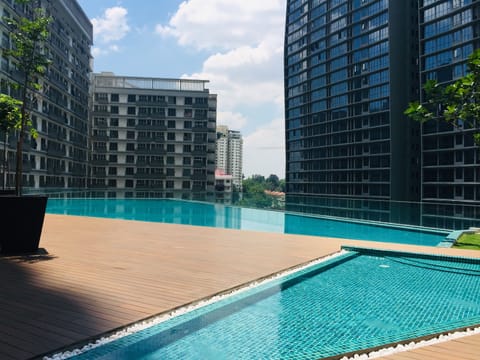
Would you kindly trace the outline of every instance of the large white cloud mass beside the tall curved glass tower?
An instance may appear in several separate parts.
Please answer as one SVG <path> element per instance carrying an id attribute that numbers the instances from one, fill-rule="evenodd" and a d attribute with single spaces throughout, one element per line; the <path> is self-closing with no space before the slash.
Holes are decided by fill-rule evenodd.
<path id="1" fill-rule="evenodd" d="M 247 176 L 285 174 L 283 115 L 284 0 L 185 0 L 156 34 L 210 53 L 201 71 L 218 94 L 218 124 L 247 134 Z M 268 108 L 269 112 L 258 109 Z"/>

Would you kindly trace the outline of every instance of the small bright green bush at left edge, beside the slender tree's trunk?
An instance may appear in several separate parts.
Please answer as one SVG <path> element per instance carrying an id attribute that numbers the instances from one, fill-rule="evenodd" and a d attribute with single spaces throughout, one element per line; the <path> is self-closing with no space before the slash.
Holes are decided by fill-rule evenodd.
<path id="1" fill-rule="evenodd" d="M 3 165 L 2 165 L 2 188 L 6 184 L 7 168 L 7 141 L 8 135 L 18 129 L 21 122 L 20 107 L 22 102 L 9 95 L 0 94 L 0 131 L 4 134 L 3 139 Z"/>

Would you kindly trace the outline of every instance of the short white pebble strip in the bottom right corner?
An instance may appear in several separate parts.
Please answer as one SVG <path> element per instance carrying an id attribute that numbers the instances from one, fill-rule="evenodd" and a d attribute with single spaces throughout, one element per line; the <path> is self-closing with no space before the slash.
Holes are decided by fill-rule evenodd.
<path id="1" fill-rule="evenodd" d="M 372 351 L 368 354 L 355 354 L 352 357 L 343 357 L 341 360 L 368 360 L 368 359 L 377 359 L 382 356 L 393 355 L 399 352 L 410 351 L 414 349 L 418 349 L 424 346 L 440 344 L 446 341 L 451 341 L 455 339 L 459 339 L 465 336 L 480 334 L 480 327 L 477 328 L 468 328 L 465 331 L 457 331 L 454 333 L 448 333 L 445 335 L 440 335 L 436 338 L 429 339 L 429 340 L 421 340 L 419 342 L 410 342 L 408 344 L 398 344 L 396 346 L 392 346 L 385 349 L 380 349 L 377 351 Z"/>

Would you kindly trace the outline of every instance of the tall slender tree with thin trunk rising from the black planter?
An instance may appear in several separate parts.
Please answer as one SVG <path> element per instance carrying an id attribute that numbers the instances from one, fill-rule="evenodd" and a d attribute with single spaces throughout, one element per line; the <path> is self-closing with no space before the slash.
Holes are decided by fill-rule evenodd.
<path id="1" fill-rule="evenodd" d="M 16 0 L 19 4 L 31 6 L 31 18 L 5 18 L 9 28 L 12 47 L 3 49 L 4 56 L 10 56 L 22 73 L 22 80 L 12 86 L 18 87 L 21 96 L 20 124 L 18 126 L 17 154 L 15 167 L 15 192 L 22 194 L 23 144 L 25 133 L 31 126 L 30 105 L 33 96 L 41 89 L 38 79 L 45 74 L 50 60 L 44 51 L 44 43 L 48 39 L 48 25 L 51 18 L 46 16 L 45 9 L 30 0 Z"/>

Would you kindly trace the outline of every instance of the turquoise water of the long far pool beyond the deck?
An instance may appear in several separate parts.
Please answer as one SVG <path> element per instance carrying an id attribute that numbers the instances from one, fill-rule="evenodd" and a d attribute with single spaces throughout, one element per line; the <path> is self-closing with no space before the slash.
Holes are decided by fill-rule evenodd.
<path id="1" fill-rule="evenodd" d="M 166 199 L 49 199 L 47 212 L 436 246 L 446 233 Z"/>

